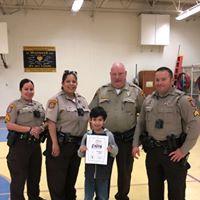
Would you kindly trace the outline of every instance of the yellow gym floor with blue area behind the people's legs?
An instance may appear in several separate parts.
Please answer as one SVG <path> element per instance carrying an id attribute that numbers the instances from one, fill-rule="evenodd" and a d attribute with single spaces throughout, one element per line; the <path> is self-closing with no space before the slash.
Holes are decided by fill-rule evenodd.
<path id="1" fill-rule="evenodd" d="M 5 124 L 0 122 L 0 200 L 9 199 L 9 182 L 10 175 L 6 164 L 6 155 L 8 147 L 6 145 L 7 130 Z M 45 145 L 42 144 L 44 150 Z M 45 159 L 43 157 L 42 163 L 42 176 L 40 182 L 40 196 L 50 200 L 47 183 L 46 183 L 46 172 L 45 172 Z M 131 179 L 131 189 L 129 193 L 130 200 L 148 200 L 148 185 L 145 170 L 145 154 L 142 155 L 139 160 L 134 161 L 134 167 Z M 186 189 L 186 200 L 199 200 L 200 191 L 200 139 L 196 146 L 192 149 L 189 157 L 191 169 L 187 175 L 187 189 Z M 84 199 L 84 159 L 82 159 L 79 175 L 76 183 L 77 188 L 77 200 Z M 110 200 L 114 200 L 114 195 L 117 191 L 117 171 L 116 164 L 114 164 L 110 188 Z M 165 190 L 165 199 L 167 200 L 167 190 Z M 26 191 L 25 191 L 26 195 Z"/>

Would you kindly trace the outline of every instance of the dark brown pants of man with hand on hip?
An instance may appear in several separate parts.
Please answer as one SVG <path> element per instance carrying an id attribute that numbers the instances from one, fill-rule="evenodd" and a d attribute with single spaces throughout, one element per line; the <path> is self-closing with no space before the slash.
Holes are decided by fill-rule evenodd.
<path id="1" fill-rule="evenodd" d="M 163 148 L 158 147 L 147 152 L 146 168 L 150 200 L 164 200 L 165 180 L 168 184 L 168 199 L 185 200 L 186 175 L 189 168 L 187 162 L 170 161 L 170 157 L 163 154 Z"/>

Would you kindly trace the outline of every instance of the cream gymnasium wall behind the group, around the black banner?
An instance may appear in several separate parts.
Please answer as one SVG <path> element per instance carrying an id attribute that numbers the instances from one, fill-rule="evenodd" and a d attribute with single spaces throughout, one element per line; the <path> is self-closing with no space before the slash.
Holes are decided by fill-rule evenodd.
<path id="1" fill-rule="evenodd" d="M 139 45 L 139 16 L 130 13 L 79 12 L 73 16 L 58 11 L 27 11 L 0 15 L 8 24 L 9 54 L 5 69 L 0 61 L 0 116 L 7 105 L 20 96 L 22 78 L 35 83 L 35 100 L 46 106 L 47 100 L 60 89 L 63 70 L 78 72 L 78 91 L 88 102 L 96 89 L 109 81 L 110 66 L 123 62 L 128 80 L 138 71 L 169 66 L 174 69 L 178 46 L 184 56 L 183 65 L 200 63 L 200 20 L 176 22 L 171 17 L 170 45 Z M 56 72 L 24 72 L 23 46 L 55 46 Z"/>

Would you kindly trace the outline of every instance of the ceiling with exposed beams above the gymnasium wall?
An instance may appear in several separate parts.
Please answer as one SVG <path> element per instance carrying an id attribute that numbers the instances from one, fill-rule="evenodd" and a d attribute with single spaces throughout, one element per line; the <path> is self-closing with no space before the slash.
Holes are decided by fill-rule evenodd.
<path id="1" fill-rule="evenodd" d="M 177 15 L 200 0 L 85 0 L 81 11 L 132 12 Z M 11 15 L 25 10 L 70 11 L 72 0 L 0 0 L 0 14 Z"/>

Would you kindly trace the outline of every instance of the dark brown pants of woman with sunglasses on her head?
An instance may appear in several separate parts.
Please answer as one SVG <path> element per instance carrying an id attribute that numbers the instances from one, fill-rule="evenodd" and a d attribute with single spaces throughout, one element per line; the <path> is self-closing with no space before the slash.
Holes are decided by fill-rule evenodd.
<path id="1" fill-rule="evenodd" d="M 75 200 L 75 183 L 81 159 L 77 155 L 79 145 L 66 143 L 60 147 L 60 155 L 46 157 L 47 182 L 51 200 Z M 48 139 L 47 151 L 51 152 L 51 141 Z"/>

